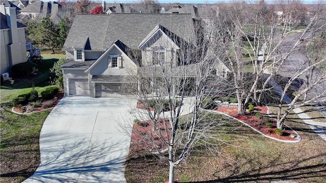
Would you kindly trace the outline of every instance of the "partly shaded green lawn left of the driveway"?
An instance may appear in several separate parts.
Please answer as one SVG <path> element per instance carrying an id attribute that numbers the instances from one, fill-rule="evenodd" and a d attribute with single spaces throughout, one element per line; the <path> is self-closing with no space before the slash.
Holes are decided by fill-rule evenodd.
<path id="1" fill-rule="evenodd" d="M 32 85 L 39 92 L 50 84 L 49 69 L 62 53 L 50 54 L 43 50 L 43 62 L 38 64 L 38 72 L 25 78 L 14 78 L 5 82 L 0 88 L 0 103 L 11 102 L 20 94 L 32 90 Z M 39 136 L 43 122 L 50 110 L 29 115 L 13 113 L 12 107 L 1 107 L 1 175 L 0 182 L 22 182 L 31 176 L 40 164 Z"/>

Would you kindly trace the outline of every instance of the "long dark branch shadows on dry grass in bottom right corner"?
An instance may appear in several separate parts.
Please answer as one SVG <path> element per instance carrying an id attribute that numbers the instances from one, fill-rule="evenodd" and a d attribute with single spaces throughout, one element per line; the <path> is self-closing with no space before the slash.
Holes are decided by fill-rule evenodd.
<path id="1" fill-rule="evenodd" d="M 326 178 L 326 162 L 319 162 L 314 165 L 305 166 L 305 167 L 297 167 L 301 163 L 304 163 L 308 160 L 319 158 L 320 156 L 325 156 L 326 153 L 319 154 L 317 156 L 308 157 L 303 159 L 295 164 L 293 162 L 288 162 L 285 164 L 275 164 L 266 166 L 259 169 L 254 169 L 248 172 L 243 172 L 240 174 L 236 174 L 241 167 L 237 169 L 230 170 L 232 174 L 225 178 L 217 178 L 214 180 L 205 180 L 205 181 L 195 181 L 195 182 L 187 182 L 187 183 L 213 183 L 213 182 L 248 182 L 248 181 L 264 181 L 264 180 L 296 180 L 296 179 L 305 179 L 311 177 L 325 177 Z M 264 169 L 270 169 L 274 167 L 284 166 L 283 170 L 278 171 L 269 171 L 266 173 L 259 173 Z M 292 168 L 287 168 L 291 166 Z"/>

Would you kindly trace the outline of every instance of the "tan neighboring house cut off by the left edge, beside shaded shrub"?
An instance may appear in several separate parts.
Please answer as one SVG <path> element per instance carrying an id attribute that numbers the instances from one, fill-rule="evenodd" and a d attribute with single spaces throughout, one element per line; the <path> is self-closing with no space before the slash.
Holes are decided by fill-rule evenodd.
<path id="1" fill-rule="evenodd" d="M 13 65 L 26 62 L 25 25 L 17 22 L 16 8 L 0 5 L 1 73 L 10 72 Z"/>

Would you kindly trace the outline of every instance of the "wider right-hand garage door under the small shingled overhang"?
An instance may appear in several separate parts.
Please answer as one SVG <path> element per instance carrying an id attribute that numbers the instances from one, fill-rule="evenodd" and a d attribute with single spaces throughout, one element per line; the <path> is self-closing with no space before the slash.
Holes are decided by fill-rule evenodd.
<path id="1" fill-rule="evenodd" d="M 96 97 L 119 97 L 125 96 L 122 92 L 121 83 L 97 83 L 95 86 Z"/>

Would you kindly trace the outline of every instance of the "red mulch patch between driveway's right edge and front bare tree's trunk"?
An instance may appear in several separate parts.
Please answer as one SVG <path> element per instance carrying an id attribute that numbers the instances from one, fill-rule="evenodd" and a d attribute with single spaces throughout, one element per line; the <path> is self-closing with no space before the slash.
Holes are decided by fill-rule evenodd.
<path id="1" fill-rule="evenodd" d="M 144 147 L 152 152 L 155 149 L 166 149 L 168 146 L 164 142 L 169 141 L 170 137 L 170 130 L 165 130 L 166 128 L 171 129 L 169 119 L 158 119 L 155 132 L 153 132 L 153 124 L 150 120 L 133 124 L 131 144 L 134 150 L 144 150 Z"/>

